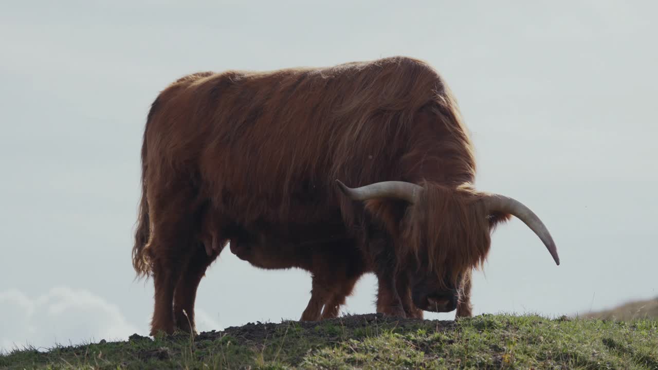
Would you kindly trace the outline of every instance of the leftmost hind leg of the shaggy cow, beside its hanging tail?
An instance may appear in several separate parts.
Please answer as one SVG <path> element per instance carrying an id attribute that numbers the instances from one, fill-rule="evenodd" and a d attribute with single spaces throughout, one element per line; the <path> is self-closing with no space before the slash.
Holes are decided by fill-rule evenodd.
<path id="1" fill-rule="evenodd" d="M 155 290 L 151 335 L 174 332 L 174 288 L 182 260 L 189 253 L 186 249 L 191 248 L 194 240 L 197 208 L 196 192 L 189 180 L 163 180 L 157 185 L 161 184 L 166 187 L 156 188 L 154 184 L 148 193 L 153 228 L 145 248 L 153 269 Z"/>

